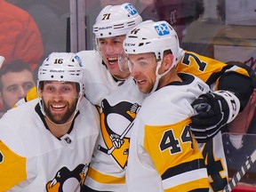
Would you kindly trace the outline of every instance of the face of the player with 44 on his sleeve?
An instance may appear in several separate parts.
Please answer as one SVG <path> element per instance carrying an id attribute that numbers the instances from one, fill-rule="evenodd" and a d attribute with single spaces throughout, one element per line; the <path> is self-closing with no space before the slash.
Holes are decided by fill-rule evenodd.
<path id="1" fill-rule="evenodd" d="M 132 76 L 136 81 L 140 92 L 148 93 L 156 82 L 156 57 L 152 52 L 129 54 Z"/>

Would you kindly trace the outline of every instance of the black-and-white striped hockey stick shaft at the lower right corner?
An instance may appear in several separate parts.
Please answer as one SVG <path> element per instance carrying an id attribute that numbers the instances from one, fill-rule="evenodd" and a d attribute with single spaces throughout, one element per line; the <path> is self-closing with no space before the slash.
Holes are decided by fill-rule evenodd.
<path id="1" fill-rule="evenodd" d="M 251 156 L 248 156 L 242 167 L 236 172 L 232 180 L 222 190 L 222 192 L 231 192 L 232 188 L 235 188 L 239 180 L 242 179 L 244 174 L 252 167 L 252 164 L 256 161 L 256 149 L 252 152 Z"/>

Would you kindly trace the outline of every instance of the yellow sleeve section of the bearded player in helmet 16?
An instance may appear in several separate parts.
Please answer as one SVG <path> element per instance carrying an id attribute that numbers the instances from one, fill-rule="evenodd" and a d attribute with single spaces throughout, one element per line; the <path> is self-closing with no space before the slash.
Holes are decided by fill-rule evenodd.
<path id="1" fill-rule="evenodd" d="M 0 188 L 6 191 L 26 180 L 26 158 L 17 155 L 0 140 Z"/>

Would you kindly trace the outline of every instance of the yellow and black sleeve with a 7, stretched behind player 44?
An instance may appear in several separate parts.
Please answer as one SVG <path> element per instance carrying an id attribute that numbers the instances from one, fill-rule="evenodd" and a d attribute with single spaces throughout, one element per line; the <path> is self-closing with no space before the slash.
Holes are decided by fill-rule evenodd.
<path id="1" fill-rule="evenodd" d="M 195 52 L 185 53 L 177 65 L 177 71 L 193 74 L 210 86 L 214 84 L 215 90 L 234 92 L 241 103 L 240 111 L 245 108 L 252 95 L 252 79 L 246 69 Z"/>

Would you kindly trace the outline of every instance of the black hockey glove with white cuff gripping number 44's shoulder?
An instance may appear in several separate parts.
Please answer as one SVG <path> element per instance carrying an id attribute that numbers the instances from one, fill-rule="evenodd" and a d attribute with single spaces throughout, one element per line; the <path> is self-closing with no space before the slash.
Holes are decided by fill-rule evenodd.
<path id="1" fill-rule="evenodd" d="M 191 105 L 196 115 L 191 116 L 190 129 L 199 143 L 211 140 L 237 116 L 240 109 L 240 101 L 228 91 L 204 93 Z"/>

